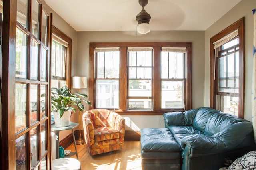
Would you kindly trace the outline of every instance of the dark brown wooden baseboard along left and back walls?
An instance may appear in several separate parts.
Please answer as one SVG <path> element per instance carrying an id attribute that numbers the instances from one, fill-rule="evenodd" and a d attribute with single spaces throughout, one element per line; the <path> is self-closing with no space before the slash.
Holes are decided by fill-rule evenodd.
<path id="1" fill-rule="evenodd" d="M 74 131 L 75 138 L 78 139 L 79 137 L 79 130 Z M 84 139 L 84 130 L 81 130 L 81 137 Z M 132 131 L 132 130 L 126 130 L 124 134 L 124 140 L 127 141 L 140 141 L 140 131 Z M 73 144 L 73 135 L 72 133 L 66 136 L 64 139 L 60 141 L 60 146 L 62 146 L 64 149 L 68 148 L 70 144 Z"/>

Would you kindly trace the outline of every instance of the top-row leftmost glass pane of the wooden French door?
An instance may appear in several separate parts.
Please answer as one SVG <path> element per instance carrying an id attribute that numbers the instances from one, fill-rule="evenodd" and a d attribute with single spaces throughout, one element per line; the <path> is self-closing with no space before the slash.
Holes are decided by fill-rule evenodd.
<path id="1" fill-rule="evenodd" d="M 17 21 L 28 29 L 28 0 L 17 0 Z"/>

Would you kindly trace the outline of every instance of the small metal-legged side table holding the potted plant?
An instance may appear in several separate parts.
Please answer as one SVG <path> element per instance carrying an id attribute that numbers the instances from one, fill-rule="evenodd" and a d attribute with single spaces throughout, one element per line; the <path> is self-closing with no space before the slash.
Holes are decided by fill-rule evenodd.
<path id="1" fill-rule="evenodd" d="M 70 122 L 69 126 L 66 127 L 55 127 L 55 124 L 52 124 L 52 132 L 55 132 L 56 135 L 56 159 L 58 159 L 59 156 L 59 132 L 62 130 L 72 130 L 72 134 L 73 134 L 73 140 L 74 140 L 74 145 L 75 145 L 75 149 L 76 149 L 76 138 L 75 138 L 75 134 L 74 134 L 74 128 L 77 127 L 79 124 L 78 123 L 74 123 L 74 122 Z M 78 159 L 78 153 L 76 150 L 76 158 Z"/>

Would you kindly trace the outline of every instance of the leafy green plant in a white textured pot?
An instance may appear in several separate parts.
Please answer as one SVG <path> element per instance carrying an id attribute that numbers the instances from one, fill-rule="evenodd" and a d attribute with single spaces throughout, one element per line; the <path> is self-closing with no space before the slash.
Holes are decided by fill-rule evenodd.
<path id="1" fill-rule="evenodd" d="M 52 112 L 56 127 L 65 127 L 69 125 L 71 111 L 76 112 L 74 106 L 78 107 L 80 111 L 83 111 L 84 105 L 82 105 L 82 101 L 91 105 L 90 101 L 81 98 L 88 97 L 86 94 L 71 93 L 71 90 L 68 89 L 66 85 L 60 89 L 52 88 L 51 91 Z"/>

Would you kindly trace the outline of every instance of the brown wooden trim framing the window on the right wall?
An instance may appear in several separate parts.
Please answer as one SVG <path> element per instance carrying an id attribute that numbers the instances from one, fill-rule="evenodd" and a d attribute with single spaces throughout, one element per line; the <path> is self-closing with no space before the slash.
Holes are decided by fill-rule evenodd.
<path id="1" fill-rule="evenodd" d="M 217 80 L 214 80 L 214 45 L 213 43 L 238 29 L 239 36 L 239 107 L 238 117 L 244 118 L 244 17 L 210 38 L 210 107 L 216 108 Z M 216 72 L 215 72 L 216 73 Z"/>

